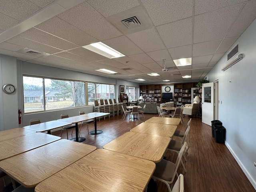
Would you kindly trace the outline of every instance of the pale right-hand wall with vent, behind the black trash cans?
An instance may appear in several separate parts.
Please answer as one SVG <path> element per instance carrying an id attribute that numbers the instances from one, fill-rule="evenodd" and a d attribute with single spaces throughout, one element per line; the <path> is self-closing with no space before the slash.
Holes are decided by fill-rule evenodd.
<path id="1" fill-rule="evenodd" d="M 239 42 L 239 53 L 242 53 L 244 58 L 222 71 L 221 68 L 227 64 L 225 54 L 207 74 L 207 78 L 210 82 L 219 79 L 219 120 L 226 128 L 226 146 L 256 189 L 255 34 L 256 20 L 234 43 L 235 45 Z"/>

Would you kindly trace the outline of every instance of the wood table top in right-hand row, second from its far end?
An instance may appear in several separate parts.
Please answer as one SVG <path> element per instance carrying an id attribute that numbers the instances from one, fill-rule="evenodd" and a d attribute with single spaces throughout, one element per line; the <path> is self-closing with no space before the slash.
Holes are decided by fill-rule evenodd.
<path id="1" fill-rule="evenodd" d="M 130 131 L 172 137 L 176 128 L 176 125 L 143 122 L 132 128 Z"/>

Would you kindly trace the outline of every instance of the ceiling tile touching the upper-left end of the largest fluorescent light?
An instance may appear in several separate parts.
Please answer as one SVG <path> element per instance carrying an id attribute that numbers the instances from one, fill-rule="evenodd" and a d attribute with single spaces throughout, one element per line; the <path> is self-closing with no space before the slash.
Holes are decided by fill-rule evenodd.
<path id="1" fill-rule="evenodd" d="M 72 26 L 68 22 L 65 22 L 58 17 L 53 17 L 45 22 L 42 22 L 41 24 L 35 26 L 35 28 L 80 46 L 99 42 L 99 40 L 96 38 L 88 35 L 86 32 Z"/>

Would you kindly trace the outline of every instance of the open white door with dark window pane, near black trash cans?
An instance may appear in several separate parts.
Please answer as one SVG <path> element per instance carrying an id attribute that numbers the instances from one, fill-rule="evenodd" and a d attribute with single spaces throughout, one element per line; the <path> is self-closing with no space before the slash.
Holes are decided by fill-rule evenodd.
<path id="1" fill-rule="evenodd" d="M 214 120 L 214 83 L 202 85 L 202 122 L 212 126 Z"/>

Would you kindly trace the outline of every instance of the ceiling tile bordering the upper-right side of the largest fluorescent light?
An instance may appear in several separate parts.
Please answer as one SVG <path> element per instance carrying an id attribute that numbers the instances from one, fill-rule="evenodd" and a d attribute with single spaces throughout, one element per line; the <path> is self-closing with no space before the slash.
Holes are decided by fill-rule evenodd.
<path id="1" fill-rule="evenodd" d="M 120 36 L 102 42 L 126 56 L 143 53 L 143 51 L 126 36 Z"/>

